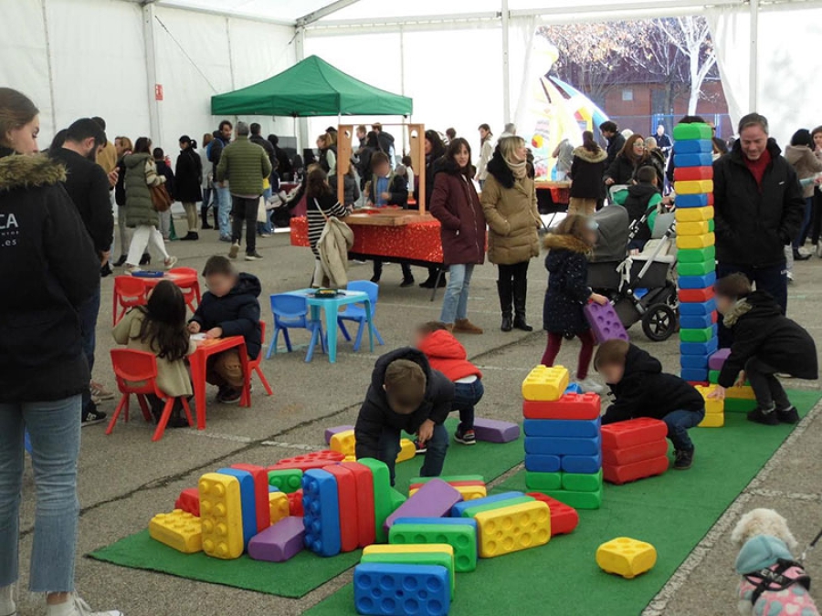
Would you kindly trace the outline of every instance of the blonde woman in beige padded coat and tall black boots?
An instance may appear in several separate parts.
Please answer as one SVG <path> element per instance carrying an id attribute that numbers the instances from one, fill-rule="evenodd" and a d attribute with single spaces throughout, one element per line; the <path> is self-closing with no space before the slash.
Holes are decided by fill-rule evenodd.
<path id="1" fill-rule="evenodd" d="M 542 220 L 526 156 L 522 137 L 502 137 L 488 163 L 488 177 L 479 200 L 490 227 L 488 258 L 499 268 L 502 331 L 533 330 L 525 319 L 528 263 L 540 254 L 537 230 Z"/>

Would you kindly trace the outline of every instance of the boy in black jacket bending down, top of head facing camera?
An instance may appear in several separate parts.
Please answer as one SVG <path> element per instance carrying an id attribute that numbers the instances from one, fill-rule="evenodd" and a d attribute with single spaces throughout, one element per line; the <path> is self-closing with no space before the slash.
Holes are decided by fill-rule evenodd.
<path id="1" fill-rule="evenodd" d="M 442 472 L 448 451 L 443 422 L 451 412 L 454 384 L 432 369 L 425 354 L 411 348 L 386 353 L 374 366 L 371 386 L 354 428 L 357 458 L 376 458 L 388 465 L 394 485 L 400 431 L 416 433 L 417 452 L 425 452 L 420 475 Z"/>

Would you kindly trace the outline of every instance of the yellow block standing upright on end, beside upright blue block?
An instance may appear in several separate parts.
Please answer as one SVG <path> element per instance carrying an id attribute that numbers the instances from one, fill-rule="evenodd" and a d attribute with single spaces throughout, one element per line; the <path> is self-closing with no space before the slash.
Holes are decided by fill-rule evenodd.
<path id="1" fill-rule="evenodd" d="M 206 473 L 200 477 L 203 551 L 216 559 L 243 555 L 243 507 L 237 477 Z"/>

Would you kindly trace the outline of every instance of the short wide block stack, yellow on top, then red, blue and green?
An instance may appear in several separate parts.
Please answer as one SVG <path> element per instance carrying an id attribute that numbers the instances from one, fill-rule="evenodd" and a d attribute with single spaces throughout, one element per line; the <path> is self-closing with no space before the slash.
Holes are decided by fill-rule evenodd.
<path id="1" fill-rule="evenodd" d="M 600 399 L 568 392 L 563 366 L 537 366 L 522 382 L 525 485 L 577 509 L 602 505 Z"/>

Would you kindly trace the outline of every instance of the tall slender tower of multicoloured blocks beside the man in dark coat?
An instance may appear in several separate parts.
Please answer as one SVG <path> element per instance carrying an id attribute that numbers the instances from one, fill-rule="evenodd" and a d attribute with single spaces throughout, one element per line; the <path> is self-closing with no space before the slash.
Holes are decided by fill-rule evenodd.
<path id="1" fill-rule="evenodd" d="M 708 124 L 680 124 L 673 136 L 681 374 L 686 381 L 705 383 L 717 350 L 712 132 Z"/>

